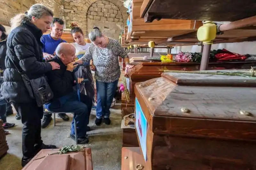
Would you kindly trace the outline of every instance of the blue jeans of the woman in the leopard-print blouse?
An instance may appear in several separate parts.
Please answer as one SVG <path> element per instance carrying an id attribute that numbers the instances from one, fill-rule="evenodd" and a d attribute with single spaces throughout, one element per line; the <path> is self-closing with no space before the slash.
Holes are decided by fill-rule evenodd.
<path id="1" fill-rule="evenodd" d="M 97 89 L 97 109 L 96 117 L 98 119 L 109 118 L 110 106 L 116 93 L 118 80 L 110 83 L 104 83 L 96 80 Z"/>

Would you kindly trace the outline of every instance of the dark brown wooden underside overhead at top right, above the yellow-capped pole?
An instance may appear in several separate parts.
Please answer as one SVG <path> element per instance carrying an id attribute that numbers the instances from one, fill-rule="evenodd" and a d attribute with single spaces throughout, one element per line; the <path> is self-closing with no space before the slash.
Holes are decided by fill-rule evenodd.
<path id="1" fill-rule="evenodd" d="M 254 0 L 153 0 L 140 11 L 146 21 L 156 18 L 188 19 L 206 21 L 236 21 L 256 15 Z M 152 2 L 152 4 L 150 4 Z M 146 2 L 145 2 L 146 3 Z M 243 7 L 243 8 L 242 8 Z M 191 10 L 193 9 L 193 10 Z"/>

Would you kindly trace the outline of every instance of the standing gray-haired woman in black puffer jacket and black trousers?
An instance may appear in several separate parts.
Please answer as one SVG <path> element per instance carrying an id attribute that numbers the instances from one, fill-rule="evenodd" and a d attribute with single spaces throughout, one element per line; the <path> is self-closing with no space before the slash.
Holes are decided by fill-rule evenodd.
<path id="1" fill-rule="evenodd" d="M 44 63 L 42 43 L 43 32 L 50 29 L 53 12 L 44 5 L 35 4 L 25 14 L 18 14 L 11 20 L 12 31 L 7 38 L 4 83 L 1 94 L 12 102 L 21 115 L 22 153 L 21 165 L 25 166 L 41 149 L 56 148 L 44 145 L 41 140 L 41 119 L 43 107 L 38 107 L 36 100 L 30 98 L 19 70 L 24 71 L 30 79 L 39 78 L 44 73 L 59 69 L 54 62 Z M 14 64 L 13 64 L 14 63 Z"/>

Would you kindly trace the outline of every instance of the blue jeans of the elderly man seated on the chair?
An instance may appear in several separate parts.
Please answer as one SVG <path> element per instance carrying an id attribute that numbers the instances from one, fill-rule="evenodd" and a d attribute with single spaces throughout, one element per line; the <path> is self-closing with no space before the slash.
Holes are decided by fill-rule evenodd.
<path id="1" fill-rule="evenodd" d="M 90 97 L 80 94 L 79 101 L 77 94 L 72 92 L 49 104 L 45 104 L 45 108 L 51 112 L 74 113 L 71 134 L 75 135 L 74 119 L 76 119 L 77 137 L 85 137 L 86 127 L 89 124 L 89 117 L 92 109 L 92 100 Z"/>

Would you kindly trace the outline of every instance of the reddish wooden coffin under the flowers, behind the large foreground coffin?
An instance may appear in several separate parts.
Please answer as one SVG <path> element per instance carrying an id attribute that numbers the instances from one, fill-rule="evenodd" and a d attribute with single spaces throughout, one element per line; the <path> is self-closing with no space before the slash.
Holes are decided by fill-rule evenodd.
<path id="1" fill-rule="evenodd" d="M 160 63 L 160 62 L 133 62 L 134 68 L 127 71 L 127 87 L 130 91 L 131 101 L 122 101 L 122 107 L 133 107 L 135 101 L 134 85 L 151 78 L 160 77 L 164 70 L 200 70 L 200 63 Z M 209 63 L 207 70 L 218 69 L 251 69 L 256 66 L 256 62 L 221 62 Z"/>

